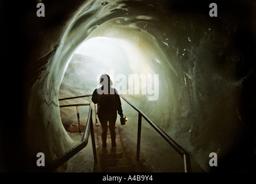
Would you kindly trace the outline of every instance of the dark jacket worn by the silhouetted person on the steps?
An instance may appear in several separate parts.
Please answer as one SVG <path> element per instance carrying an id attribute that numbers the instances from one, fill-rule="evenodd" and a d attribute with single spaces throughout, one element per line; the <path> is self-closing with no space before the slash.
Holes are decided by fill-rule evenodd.
<path id="1" fill-rule="evenodd" d="M 123 110 L 119 94 L 114 89 L 114 94 L 98 94 L 97 89 L 93 91 L 93 97 L 91 101 L 94 104 L 98 104 L 98 116 L 117 116 L 118 114 L 123 117 Z"/>

